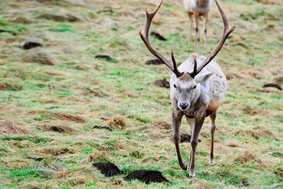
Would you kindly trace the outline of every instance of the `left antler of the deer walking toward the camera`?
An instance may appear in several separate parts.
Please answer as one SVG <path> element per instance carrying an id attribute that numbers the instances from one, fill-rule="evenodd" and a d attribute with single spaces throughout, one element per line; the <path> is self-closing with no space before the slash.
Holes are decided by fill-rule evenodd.
<path id="1" fill-rule="evenodd" d="M 146 47 L 149 49 L 149 51 L 152 53 L 152 55 L 156 56 L 158 59 L 161 60 L 161 62 L 163 62 L 163 64 L 166 64 L 166 66 L 171 69 L 171 71 L 174 72 L 174 74 L 177 77 L 182 76 L 183 74 L 180 73 L 180 71 L 178 71 L 177 69 L 177 64 L 175 62 L 175 58 L 173 55 L 173 50 L 171 51 L 171 57 L 172 57 L 172 61 L 173 64 L 171 64 L 171 62 L 168 61 L 168 59 L 166 59 L 166 57 L 164 57 L 163 55 L 161 55 L 160 52 L 158 52 L 158 50 L 156 50 L 151 43 L 149 42 L 149 28 L 151 25 L 151 21 L 154 18 L 156 12 L 158 11 L 158 9 L 161 7 L 161 4 L 163 3 L 163 0 L 161 0 L 160 4 L 158 6 L 156 6 L 156 8 L 154 9 L 154 11 L 152 13 L 149 13 L 147 11 L 147 7 L 146 7 L 146 28 L 144 29 L 144 34 L 143 35 L 141 33 L 141 30 L 139 31 L 139 36 L 141 36 L 141 40 L 144 41 L 144 44 L 146 45 Z"/>

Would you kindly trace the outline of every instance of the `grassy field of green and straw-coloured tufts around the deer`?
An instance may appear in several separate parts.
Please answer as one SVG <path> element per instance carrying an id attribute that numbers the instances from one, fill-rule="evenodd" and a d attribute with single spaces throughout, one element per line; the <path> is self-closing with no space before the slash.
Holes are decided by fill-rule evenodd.
<path id="1" fill-rule="evenodd" d="M 1 188 L 283 188 L 283 93 L 262 88 L 283 86 L 283 4 L 259 1 L 219 1 L 237 25 L 216 57 L 229 89 L 216 162 L 208 162 L 207 119 L 193 179 L 172 142 L 170 90 L 154 84 L 169 79 L 166 67 L 145 64 L 154 57 L 138 35 L 144 7 L 158 0 L 0 1 Z M 222 33 L 215 4 L 207 49 L 203 38 L 188 42 L 189 25 L 182 1 L 165 0 L 152 29 L 167 40 L 151 41 L 167 57 L 172 47 L 179 64 L 192 52 L 209 55 Z M 42 47 L 23 50 L 29 40 Z M 181 130 L 190 133 L 185 120 Z M 181 149 L 188 160 L 190 144 Z M 171 183 L 106 178 L 92 166 L 101 161 L 125 173 L 158 170 Z"/>

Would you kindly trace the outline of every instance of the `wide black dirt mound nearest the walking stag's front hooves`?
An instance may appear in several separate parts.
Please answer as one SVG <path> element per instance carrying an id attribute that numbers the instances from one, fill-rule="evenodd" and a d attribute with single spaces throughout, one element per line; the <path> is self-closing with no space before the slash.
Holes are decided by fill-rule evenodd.
<path id="1" fill-rule="evenodd" d="M 149 183 L 169 183 L 160 171 L 136 170 L 125 176 L 126 181 L 139 180 L 146 184 Z"/>

